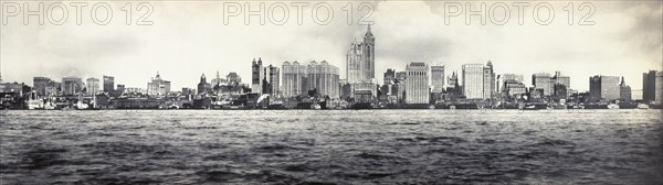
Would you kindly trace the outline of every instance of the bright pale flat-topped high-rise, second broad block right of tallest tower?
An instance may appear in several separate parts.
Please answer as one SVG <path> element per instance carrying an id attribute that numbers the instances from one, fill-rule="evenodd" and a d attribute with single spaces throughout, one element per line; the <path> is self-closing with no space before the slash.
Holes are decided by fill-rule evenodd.
<path id="1" fill-rule="evenodd" d="M 462 68 L 463 95 L 467 99 L 484 99 L 483 64 L 465 64 Z"/>

